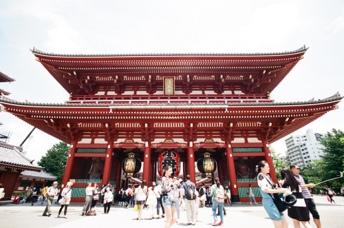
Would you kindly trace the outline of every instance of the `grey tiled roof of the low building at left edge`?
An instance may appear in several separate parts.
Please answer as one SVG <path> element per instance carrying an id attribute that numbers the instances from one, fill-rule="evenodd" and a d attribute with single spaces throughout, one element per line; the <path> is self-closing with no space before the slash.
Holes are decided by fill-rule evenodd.
<path id="1" fill-rule="evenodd" d="M 42 167 L 33 165 L 33 161 L 34 160 L 30 160 L 23 154 L 21 147 L 0 142 L 0 166 L 11 167 L 13 169 L 41 171 Z"/>

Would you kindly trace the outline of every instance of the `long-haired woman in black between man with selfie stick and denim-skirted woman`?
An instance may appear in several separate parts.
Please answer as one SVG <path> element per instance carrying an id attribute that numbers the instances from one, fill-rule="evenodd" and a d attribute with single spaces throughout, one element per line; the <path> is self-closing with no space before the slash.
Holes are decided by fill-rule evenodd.
<path id="1" fill-rule="evenodd" d="M 282 180 L 280 182 L 281 187 L 288 188 L 289 191 L 292 191 L 292 194 L 297 198 L 297 203 L 293 207 L 288 208 L 288 216 L 292 218 L 294 227 L 300 227 L 300 222 L 306 228 L 311 228 L 309 222 L 310 212 L 305 206 L 305 200 L 303 200 L 302 189 L 292 172 L 288 168 L 281 169 Z"/>

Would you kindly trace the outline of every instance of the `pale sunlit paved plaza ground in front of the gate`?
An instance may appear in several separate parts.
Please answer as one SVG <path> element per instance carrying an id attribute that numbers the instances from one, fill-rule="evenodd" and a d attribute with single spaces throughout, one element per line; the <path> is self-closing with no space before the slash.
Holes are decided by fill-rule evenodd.
<path id="1" fill-rule="evenodd" d="M 336 205 L 328 203 L 325 196 L 314 196 L 314 200 L 324 228 L 344 227 L 344 197 L 335 196 Z M 52 205 L 52 216 L 42 216 L 45 205 L 45 203 L 44 205 L 35 203 L 34 206 L 31 206 L 30 203 L 12 205 L 1 202 L 0 227 L 164 227 L 164 218 L 147 219 L 149 217 L 147 209 L 144 209 L 142 214 L 144 220 L 139 221 L 135 219 L 137 213 L 133 211 L 133 208 L 125 209 L 117 206 L 118 203 L 111 207 L 109 214 L 103 214 L 103 207 L 97 205 L 98 216 L 80 216 L 83 204 L 71 203 L 68 207 L 68 218 L 56 218 L 60 207 L 58 204 Z M 232 207 L 226 206 L 226 211 L 227 216 L 224 217 L 224 227 L 273 227 L 261 203 L 258 206 L 236 203 Z M 289 227 L 293 227 L 292 220 L 288 216 L 286 218 Z M 200 208 L 198 222 L 191 227 L 211 227 L 212 222 L 211 208 Z M 311 225 L 316 227 L 313 221 Z M 180 220 L 173 227 L 187 226 L 186 211 L 180 211 Z"/>

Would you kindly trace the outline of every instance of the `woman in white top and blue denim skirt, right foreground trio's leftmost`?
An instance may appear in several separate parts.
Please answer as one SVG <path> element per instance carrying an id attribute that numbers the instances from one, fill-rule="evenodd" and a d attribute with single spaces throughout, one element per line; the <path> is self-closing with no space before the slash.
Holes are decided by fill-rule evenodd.
<path id="1" fill-rule="evenodd" d="M 283 212 L 279 211 L 272 200 L 270 194 L 275 193 L 285 193 L 288 191 L 288 189 L 285 188 L 279 188 L 274 189 L 275 186 L 273 185 L 273 182 L 268 175 L 270 172 L 269 164 L 266 162 L 266 160 L 261 160 L 258 163 L 258 176 L 257 176 L 257 182 L 260 187 L 261 196 L 263 198 L 262 203 L 263 207 L 268 213 L 268 216 L 272 220 L 272 223 L 275 225 L 275 227 L 278 228 L 288 228 L 288 223 L 286 221 L 286 218 L 283 215 Z"/>

